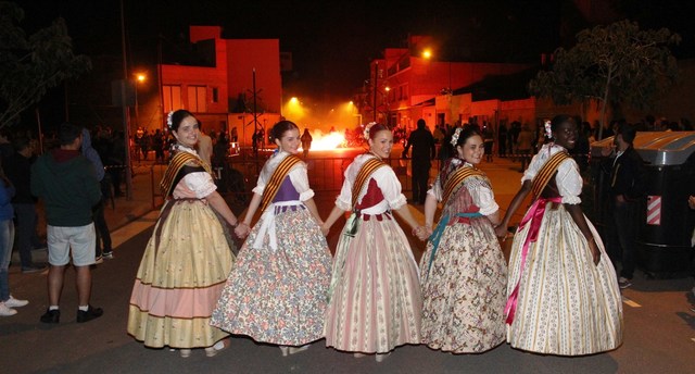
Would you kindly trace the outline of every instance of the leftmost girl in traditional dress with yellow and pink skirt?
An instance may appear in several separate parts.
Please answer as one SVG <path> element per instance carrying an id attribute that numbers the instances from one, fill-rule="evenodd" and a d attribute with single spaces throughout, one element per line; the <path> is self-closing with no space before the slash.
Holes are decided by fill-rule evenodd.
<path id="1" fill-rule="evenodd" d="M 167 125 L 177 140 L 161 184 L 167 200 L 132 287 L 128 334 L 148 347 L 178 348 L 184 358 L 199 347 L 213 357 L 228 335 L 211 326 L 210 317 L 235 261 L 227 226 L 237 217 L 215 190 L 210 165 L 193 150 L 198 120 L 178 110 Z"/>

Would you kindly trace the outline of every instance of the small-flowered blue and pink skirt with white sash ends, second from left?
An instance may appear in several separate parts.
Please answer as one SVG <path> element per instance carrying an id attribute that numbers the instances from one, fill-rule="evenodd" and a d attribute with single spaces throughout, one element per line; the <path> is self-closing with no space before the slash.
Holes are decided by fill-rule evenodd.
<path id="1" fill-rule="evenodd" d="M 276 250 L 267 234 L 263 248 L 253 248 L 263 221 L 253 227 L 213 312 L 214 326 L 282 346 L 324 337 L 331 255 L 308 210 L 294 208 L 275 216 Z"/>

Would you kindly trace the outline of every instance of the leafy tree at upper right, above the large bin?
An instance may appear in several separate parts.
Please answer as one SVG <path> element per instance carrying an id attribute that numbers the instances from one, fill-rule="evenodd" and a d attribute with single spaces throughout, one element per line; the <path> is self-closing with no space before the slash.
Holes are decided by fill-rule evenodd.
<path id="1" fill-rule="evenodd" d="M 552 68 L 539 72 L 529 91 L 556 104 L 598 100 L 601 139 L 606 104 L 653 108 L 675 83 L 678 65 L 669 46 L 680 41 L 668 28 L 641 30 L 630 21 L 584 29 L 574 47 L 555 51 Z"/>

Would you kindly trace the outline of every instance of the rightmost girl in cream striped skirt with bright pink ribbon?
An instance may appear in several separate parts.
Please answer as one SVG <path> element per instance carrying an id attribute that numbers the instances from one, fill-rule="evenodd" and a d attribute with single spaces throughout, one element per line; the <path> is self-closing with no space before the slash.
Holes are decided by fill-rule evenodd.
<path id="1" fill-rule="evenodd" d="M 523 199 L 533 203 L 519 224 L 509 260 L 507 341 L 558 356 L 607 351 L 622 342 L 622 303 L 616 273 L 579 203 L 582 178 L 568 154 L 577 124 L 568 115 L 546 123 L 547 137 L 521 178 L 497 236 Z"/>

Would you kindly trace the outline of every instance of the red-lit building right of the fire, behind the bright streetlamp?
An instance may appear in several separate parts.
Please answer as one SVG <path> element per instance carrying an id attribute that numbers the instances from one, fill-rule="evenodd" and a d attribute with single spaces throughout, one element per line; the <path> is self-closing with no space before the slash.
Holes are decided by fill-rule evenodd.
<path id="1" fill-rule="evenodd" d="M 369 85 L 356 101 L 361 103 L 364 122 L 376 120 L 405 128 L 414 128 L 420 117 L 430 128 L 435 124 L 466 122 L 473 114 L 470 98 L 468 104 L 462 98 L 453 99 L 453 90 L 488 76 L 510 75 L 530 67 L 528 64 L 438 61 L 437 45 L 425 36 L 410 36 L 408 48 L 388 48 L 383 57 L 371 62 Z"/>

